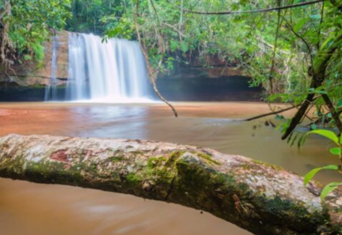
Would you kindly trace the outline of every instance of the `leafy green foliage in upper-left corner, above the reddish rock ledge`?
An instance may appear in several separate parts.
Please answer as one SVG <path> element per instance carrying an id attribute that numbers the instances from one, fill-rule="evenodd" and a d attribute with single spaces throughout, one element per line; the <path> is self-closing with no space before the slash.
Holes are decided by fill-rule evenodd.
<path id="1" fill-rule="evenodd" d="M 44 43 L 64 28 L 71 14 L 69 0 L 11 0 L 0 2 L 1 61 L 10 65 L 44 58 Z"/>

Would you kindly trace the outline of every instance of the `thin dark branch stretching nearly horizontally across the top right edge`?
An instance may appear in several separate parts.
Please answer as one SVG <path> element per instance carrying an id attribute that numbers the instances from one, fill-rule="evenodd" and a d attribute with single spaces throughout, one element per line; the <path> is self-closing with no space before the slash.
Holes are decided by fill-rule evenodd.
<path id="1" fill-rule="evenodd" d="M 179 6 L 174 5 L 174 3 L 172 3 L 170 0 L 168 0 L 169 3 L 171 3 L 172 5 L 174 5 L 177 8 L 181 9 L 184 12 L 201 14 L 201 15 L 232 15 L 232 14 L 268 12 L 268 11 L 283 10 L 283 9 L 288 9 L 288 8 L 294 8 L 294 7 L 316 4 L 316 3 L 319 3 L 322 1 L 326 1 L 326 0 L 315 0 L 315 1 L 301 2 L 298 4 L 292 4 L 292 5 L 287 5 L 287 6 L 270 7 L 270 8 L 264 8 L 264 9 L 249 10 L 249 11 L 213 11 L 213 12 L 207 12 L 207 11 L 192 11 L 189 9 L 184 9 L 184 8 L 181 8 Z"/>

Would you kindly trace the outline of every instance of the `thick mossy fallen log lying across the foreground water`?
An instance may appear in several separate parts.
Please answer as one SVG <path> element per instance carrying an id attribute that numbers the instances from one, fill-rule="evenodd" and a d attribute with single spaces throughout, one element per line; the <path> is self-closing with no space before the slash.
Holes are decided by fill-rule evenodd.
<path id="1" fill-rule="evenodd" d="M 342 192 L 320 200 L 280 167 L 173 143 L 8 135 L 0 177 L 132 194 L 177 203 L 256 235 L 341 235 Z M 227 231 L 228 232 L 228 231 Z"/>

